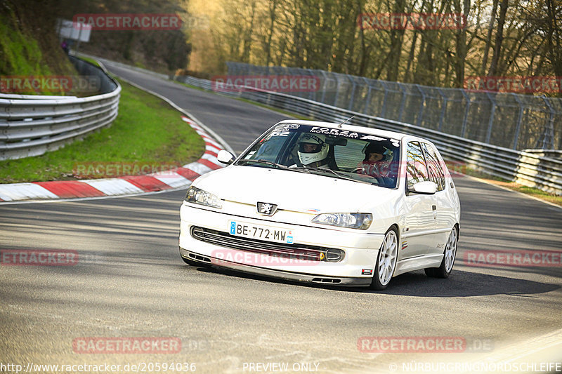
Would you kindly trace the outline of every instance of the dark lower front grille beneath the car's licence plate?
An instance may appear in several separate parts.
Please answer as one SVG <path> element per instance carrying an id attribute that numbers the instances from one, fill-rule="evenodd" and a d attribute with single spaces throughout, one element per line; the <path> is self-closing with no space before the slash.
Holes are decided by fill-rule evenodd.
<path id="1" fill-rule="evenodd" d="M 263 253 L 282 258 L 339 262 L 344 260 L 345 256 L 345 252 L 338 248 L 325 248 L 296 243 L 272 243 L 270 241 L 233 236 L 228 234 L 228 232 L 220 232 L 214 229 L 197 226 L 191 227 L 191 236 L 197 240 L 216 244 L 217 246 L 253 253 Z"/>

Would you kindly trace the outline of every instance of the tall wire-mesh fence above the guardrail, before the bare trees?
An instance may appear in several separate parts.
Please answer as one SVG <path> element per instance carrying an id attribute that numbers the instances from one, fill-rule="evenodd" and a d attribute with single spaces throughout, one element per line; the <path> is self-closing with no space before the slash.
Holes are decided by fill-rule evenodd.
<path id="1" fill-rule="evenodd" d="M 318 89 L 290 94 L 353 112 L 498 147 L 562 149 L 562 98 L 429 87 L 298 67 L 226 65 L 228 76 L 314 77 Z"/>

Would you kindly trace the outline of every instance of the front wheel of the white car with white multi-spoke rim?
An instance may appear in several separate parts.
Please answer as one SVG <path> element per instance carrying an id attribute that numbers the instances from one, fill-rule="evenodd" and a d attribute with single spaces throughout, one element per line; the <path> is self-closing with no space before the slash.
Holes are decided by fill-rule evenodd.
<path id="1" fill-rule="evenodd" d="M 384 290 L 390 283 L 398 260 L 398 234 L 396 229 L 388 229 L 377 255 L 377 263 L 374 265 L 373 280 L 371 288 Z M 384 261 L 382 263 L 381 261 Z"/>

